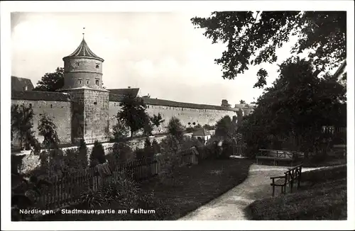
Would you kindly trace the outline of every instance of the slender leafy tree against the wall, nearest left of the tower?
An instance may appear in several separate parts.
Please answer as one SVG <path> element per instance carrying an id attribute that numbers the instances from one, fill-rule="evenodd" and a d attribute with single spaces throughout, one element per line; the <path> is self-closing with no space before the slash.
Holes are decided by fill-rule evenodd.
<path id="1" fill-rule="evenodd" d="M 43 135 L 43 145 L 47 147 L 48 150 L 50 150 L 50 148 L 58 149 L 60 140 L 57 134 L 57 126 L 53 123 L 52 118 L 45 113 L 40 117 L 38 134 Z"/>

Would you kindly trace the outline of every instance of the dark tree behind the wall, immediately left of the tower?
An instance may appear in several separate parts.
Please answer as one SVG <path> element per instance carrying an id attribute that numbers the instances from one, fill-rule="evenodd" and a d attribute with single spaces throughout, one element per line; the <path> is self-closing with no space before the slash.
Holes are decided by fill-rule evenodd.
<path id="1" fill-rule="evenodd" d="M 45 73 L 33 91 L 57 91 L 64 86 L 64 68 L 57 67 L 55 72 Z"/>

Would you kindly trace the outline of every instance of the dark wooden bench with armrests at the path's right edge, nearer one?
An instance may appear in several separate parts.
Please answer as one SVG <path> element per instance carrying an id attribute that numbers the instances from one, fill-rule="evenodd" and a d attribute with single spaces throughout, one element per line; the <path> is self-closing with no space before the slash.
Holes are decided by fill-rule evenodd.
<path id="1" fill-rule="evenodd" d="M 285 171 L 284 176 L 273 176 L 270 178 L 273 180 L 273 183 L 271 183 L 271 186 L 273 186 L 273 196 L 275 194 L 275 186 L 280 186 L 281 193 L 286 194 L 286 186 L 289 184 L 290 192 L 292 193 L 293 183 L 297 181 L 297 189 L 300 189 L 302 165 L 300 164 L 288 169 L 288 171 Z"/>

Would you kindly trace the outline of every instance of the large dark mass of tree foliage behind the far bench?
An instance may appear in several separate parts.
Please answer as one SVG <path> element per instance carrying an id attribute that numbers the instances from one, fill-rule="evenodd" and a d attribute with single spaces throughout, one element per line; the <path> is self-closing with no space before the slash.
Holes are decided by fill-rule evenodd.
<path id="1" fill-rule="evenodd" d="M 346 124 L 346 89 L 329 75 L 318 78 L 311 62 L 289 59 L 280 75 L 244 117 L 239 131 L 251 152 L 267 145 L 268 135 L 295 137 L 300 151 L 317 152 L 322 125 Z"/>

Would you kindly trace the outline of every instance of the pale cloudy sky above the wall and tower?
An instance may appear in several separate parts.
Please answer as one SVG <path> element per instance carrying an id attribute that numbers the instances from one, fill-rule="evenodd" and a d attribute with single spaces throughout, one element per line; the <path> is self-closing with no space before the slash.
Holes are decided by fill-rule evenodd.
<path id="1" fill-rule="evenodd" d="M 11 75 L 33 84 L 47 72 L 63 67 L 82 40 L 105 61 L 107 89 L 140 88 L 141 96 L 188 103 L 234 106 L 241 99 L 256 101 L 262 89 L 253 89 L 256 72 L 269 72 L 268 86 L 278 77 L 277 64 L 290 56 L 291 39 L 277 50 L 278 62 L 249 67 L 233 80 L 222 78 L 214 59 L 224 44 L 213 44 L 190 18 L 204 13 L 11 13 Z M 83 30 L 83 28 L 85 28 Z"/>

